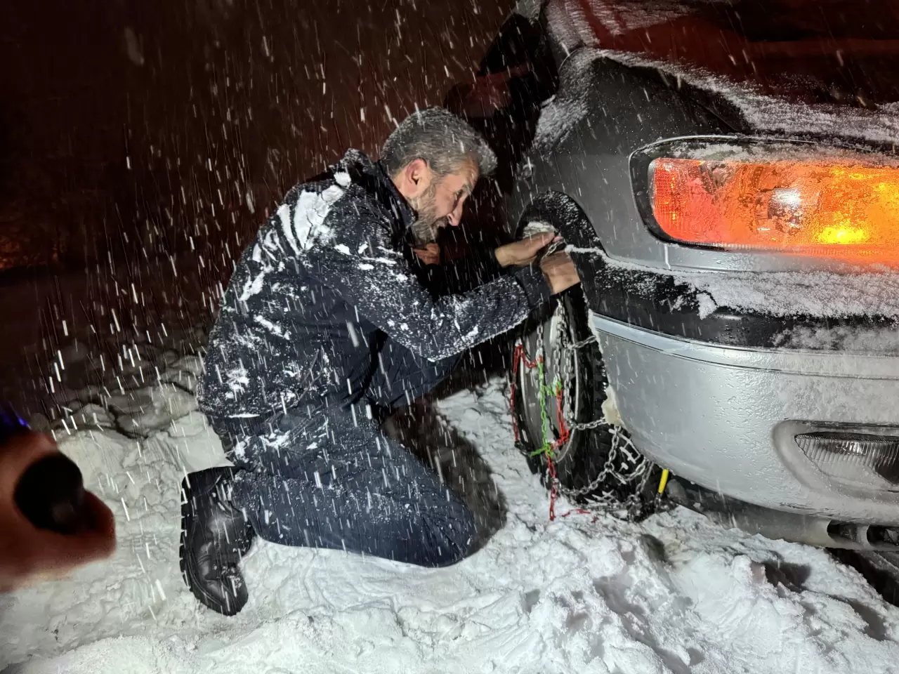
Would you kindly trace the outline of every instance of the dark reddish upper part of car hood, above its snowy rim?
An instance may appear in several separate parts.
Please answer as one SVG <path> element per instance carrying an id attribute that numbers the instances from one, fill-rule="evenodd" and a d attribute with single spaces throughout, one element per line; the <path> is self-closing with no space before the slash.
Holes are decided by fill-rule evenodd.
<path id="1" fill-rule="evenodd" d="M 569 44 L 700 69 L 801 102 L 869 108 L 899 101 L 899 6 L 890 5 L 550 0 L 547 13 Z"/>

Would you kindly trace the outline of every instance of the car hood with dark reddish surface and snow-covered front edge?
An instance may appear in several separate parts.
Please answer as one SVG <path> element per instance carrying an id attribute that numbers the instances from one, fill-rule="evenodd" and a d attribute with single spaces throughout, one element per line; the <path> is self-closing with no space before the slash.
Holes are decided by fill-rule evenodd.
<path id="1" fill-rule="evenodd" d="M 852 12 L 842 0 L 825 2 L 827 11 L 811 18 L 806 14 L 814 13 L 807 5 L 800 11 L 799 4 L 550 0 L 544 11 L 556 44 L 571 54 L 560 68 L 569 82 L 596 58 L 610 58 L 720 94 L 754 131 L 893 145 L 899 140 L 899 40 L 887 36 L 899 34 L 899 6 L 877 6 L 875 20 L 875 8 L 864 2 L 853 4 Z M 827 32 L 831 24 L 839 31 Z M 538 145 L 583 117 L 587 111 L 577 99 L 568 88 L 555 102 L 558 110 L 548 106 Z"/>

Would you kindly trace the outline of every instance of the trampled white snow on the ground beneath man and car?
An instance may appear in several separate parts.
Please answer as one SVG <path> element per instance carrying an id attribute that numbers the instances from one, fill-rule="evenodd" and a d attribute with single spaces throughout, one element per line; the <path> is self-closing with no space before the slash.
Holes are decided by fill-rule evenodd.
<path id="1" fill-rule="evenodd" d="M 189 380 L 198 366 L 174 369 Z M 428 570 L 256 545 L 245 561 L 250 602 L 234 618 L 200 607 L 178 571 L 182 474 L 223 460 L 191 395 L 138 391 L 139 408 L 118 428 L 157 429 L 139 442 L 89 408 L 92 423 L 99 410 L 93 430 L 82 420 L 62 448 L 116 511 L 119 551 L 0 598 L 0 670 L 899 670 L 899 609 L 822 551 L 725 531 L 687 510 L 639 525 L 550 523 L 547 494 L 512 446 L 503 386 L 494 379 L 440 403 L 492 467 L 508 508 L 480 552 Z"/>

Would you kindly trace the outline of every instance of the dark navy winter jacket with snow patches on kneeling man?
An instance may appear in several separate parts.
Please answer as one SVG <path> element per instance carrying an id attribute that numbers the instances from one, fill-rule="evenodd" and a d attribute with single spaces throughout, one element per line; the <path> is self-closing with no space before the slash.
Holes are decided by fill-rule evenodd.
<path id="1" fill-rule="evenodd" d="M 218 419 L 345 404 L 389 336 L 444 359 L 519 324 L 549 297 L 523 268 L 440 296 L 412 252 L 414 211 L 379 164 L 351 150 L 289 191 L 228 285 L 209 338 L 200 409 Z M 447 279 L 457 275 L 444 268 Z"/>

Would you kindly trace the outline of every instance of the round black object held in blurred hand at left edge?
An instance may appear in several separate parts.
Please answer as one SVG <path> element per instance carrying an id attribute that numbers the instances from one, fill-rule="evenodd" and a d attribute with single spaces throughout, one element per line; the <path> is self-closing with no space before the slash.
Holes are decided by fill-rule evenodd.
<path id="1" fill-rule="evenodd" d="M 28 432 L 28 424 L 22 417 L 0 404 L 0 446 Z M 37 528 L 76 534 L 90 527 L 81 471 L 64 454 L 52 454 L 29 466 L 16 484 L 13 498 Z"/>

